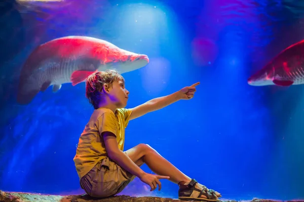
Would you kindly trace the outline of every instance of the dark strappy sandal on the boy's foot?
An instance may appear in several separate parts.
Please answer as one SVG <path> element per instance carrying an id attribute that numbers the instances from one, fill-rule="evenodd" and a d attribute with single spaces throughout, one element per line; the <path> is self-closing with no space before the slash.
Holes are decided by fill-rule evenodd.
<path id="1" fill-rule="evenodd" d="M 204 186 L 201 189 L 198 189 L 195 187 L 196 183 L 198 181 L 195 179 L 192 179 L 189 184 L 187 185 L 180 185 L 180 188 L 178 190 L 178 199 L 179 200 L 205 200 L 205 201 L 219 201 L 217 198 L 215 191 L 212 189 L 207 189 L 206 186 Z M 206 198 L 203 198 L 201 196 L 206 196 Z"/>

